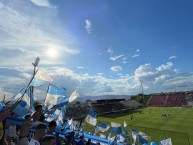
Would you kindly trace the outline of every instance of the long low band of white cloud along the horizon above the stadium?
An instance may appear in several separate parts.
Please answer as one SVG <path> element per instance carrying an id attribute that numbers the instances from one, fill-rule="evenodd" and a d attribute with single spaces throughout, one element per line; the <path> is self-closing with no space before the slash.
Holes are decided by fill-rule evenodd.
<path id="1" fill-rule="evenodd" d="M 90 75 L 88 73 L 78 74 L 64 67 L 47 67 L 41 70 L 48 72 L 53 78 L 53 84 L 64 86 L 70 94 L 74 89 L 78 89 L 81 96 L 85 95 L 116 95 L 116 94 L 138 94 L 141 92 L 139 80 L 143 80 L 144 92 L 156 93 L 171 90 L 191 89 L 193 85 L 193 73 L 175 72 L 174 69 L 163 68 L 168 64 L 162 64 L 158 67 L 150 63 L 140 65 L 132 75 L 118 74 L 117 77 L 109 78 L 103 73 Z M 112 71 L 118 72 L 122 68 L 114 66 Z M 164 70 L 164 71 L 163 71 Z M 10 68 L 0 68 L 0 91 L 1 94 L 17 94 L 30 80 L 31 67 L 16 66 Z M 39 90 L 39 94 L 45 96 L 46 87 Z M 9 94 L 10 93 L 10 94 Z M 36 93 L 36 92 L 35 92 Z M 39 96 L 39 95 L 38 95 Z M 40 95 L 41 96 L 41 95 Z"/>

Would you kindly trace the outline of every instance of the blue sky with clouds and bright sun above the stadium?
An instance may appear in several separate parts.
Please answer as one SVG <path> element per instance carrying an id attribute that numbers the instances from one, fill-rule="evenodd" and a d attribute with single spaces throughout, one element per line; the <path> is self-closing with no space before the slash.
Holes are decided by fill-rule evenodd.
<path id="1" fill-rule="evenodd" d="M 192 0 L 0 0 L 0 98 L 28 84 L 38 56 L 68 94 L 193 90 L 192 28 Z"/>

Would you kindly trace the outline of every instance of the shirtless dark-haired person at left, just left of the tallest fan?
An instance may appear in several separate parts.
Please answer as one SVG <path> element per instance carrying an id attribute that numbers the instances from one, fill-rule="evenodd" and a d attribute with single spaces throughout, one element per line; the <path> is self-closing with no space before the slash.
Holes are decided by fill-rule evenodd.
<path id="1" fill-rule="evenodd" d="M 26 115 L 25 116 L 25 122 L 24 124 L 21 126 L 21 130 L 20 130 L 20 136 L 19 136 L 19 145 L 28 145 L 29 141 L 28 141 L 28 136 L 29 136 L 29 129 L 31 127 L 31 115 Z"/>

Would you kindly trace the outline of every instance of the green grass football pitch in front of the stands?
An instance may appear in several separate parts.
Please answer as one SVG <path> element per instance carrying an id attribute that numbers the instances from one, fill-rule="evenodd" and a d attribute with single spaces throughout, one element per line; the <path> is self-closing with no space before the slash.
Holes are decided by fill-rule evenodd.
<path id="1" fill-rule="evenodd" d="M 161 118 L 170 114 L 170 118 Z M 133 119 L 131 120 L 131 116 Z M 193 108 L 148 107 L 129 113 L 119 113 L 98 117 L 101 122 L 127 123 L 127 129 L 136 129 L 151 136 L 152 141 L 172 138 L 173 145 L 193 145 Z M 85 124 L 88 130 L 91 126 Z M 189 138 L 189 139 L 188 139 Z"/>

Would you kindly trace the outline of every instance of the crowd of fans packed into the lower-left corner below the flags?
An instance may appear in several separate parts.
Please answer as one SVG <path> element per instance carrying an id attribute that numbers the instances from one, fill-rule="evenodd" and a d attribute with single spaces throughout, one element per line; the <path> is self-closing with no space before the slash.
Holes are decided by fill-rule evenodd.
<path id="1" fill-rule="evenodd" d="M 16 114 L 12 112 L 13 108 L 4 107 L 0 112 L 0 145 L 90 145 L 91 140 L 87 142 L 84 136 L 75 140 L 75 132 L 70 132 L 64 137 L 60 137 L 55 132 L 56 121 L 46 122 L 42 113 L 42 105 L 36 106 L 36 112 L 32 115 L 26 115 L 22 125 L 16 125 L 7 121 L 7 117 L 14 118 Z"/>

